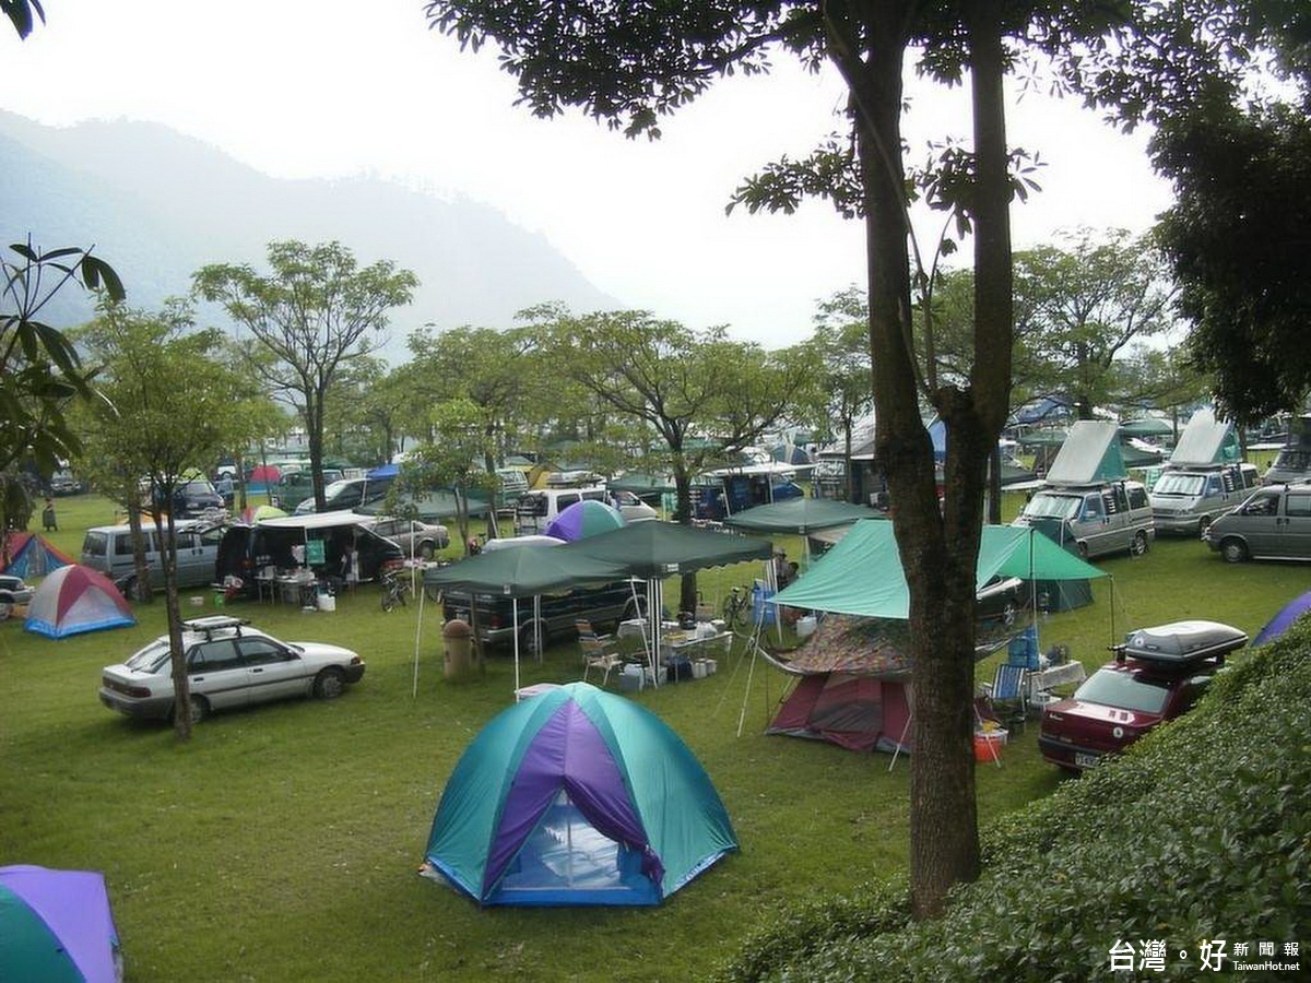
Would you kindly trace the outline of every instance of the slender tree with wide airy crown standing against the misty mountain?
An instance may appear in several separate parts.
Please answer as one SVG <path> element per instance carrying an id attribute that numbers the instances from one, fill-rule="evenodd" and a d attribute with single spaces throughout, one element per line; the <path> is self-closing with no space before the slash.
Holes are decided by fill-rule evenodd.
<path id="1" fill-rule="evenodd" d="M 341 242 L 270 242 L 265 275 L 229 263 L 195 274 L 195 292 L 216 300 L 271 358 L 246 366 L 305 426 L 315 502 L 324 507 L 324 414 L 342 367 L 385 341 L 388 312 L 410 301 L 418 279 L 388 261 L 361 269 Z"/>

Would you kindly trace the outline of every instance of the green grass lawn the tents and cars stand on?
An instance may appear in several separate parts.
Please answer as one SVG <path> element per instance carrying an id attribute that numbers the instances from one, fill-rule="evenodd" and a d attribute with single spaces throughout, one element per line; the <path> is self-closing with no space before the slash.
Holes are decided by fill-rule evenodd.
<path id="1" fill-rule="evenodd" d="M 113 520 L 93 495 L 58 506 L 52 539 L 75 554 L 80 530 Z M 1092 606 L 1040 624 L 1044 647 L 1068 645 L 1089 668 L 1130 628 L 1205 617 L 1255 632 L 1311 588 L 1311 566 L 1230 566 L 1196 540 L 1100 566 L 1112 578 Z M 713 570 L 700 586 L 714 599 L 754 575 L 755 565 Z M 203 596 L 195 613 L 212 613 Z M 682 980 L 708 973 L 763 914 L 905 868 L 909 761 L 889 769 L 888 755 L 764 737 L 784 679 L 735 649 L 713 676 L 633 699 L 700 758 L 742 852 L 659 908 L 479 910 L 416 870 L 447 775 L 511 700 L 509 655 L 481 678 L 446 680 L 438 612 L 422 625 L 417 607 L 384 613 L 375 586 L 336 612 L 229 611 L 287 640 L 354 647 L 368 671 L 337 701 L 218 714 L 178 744 L 170 727 L 96 699 L 102 666 L 164 632 L 163 603 L 139 607 L 135 628 L 62 641 L 0 624 L 0 864 L 104 870 L 135 983 Z M 522 667 L 523 683 L 581 668 L 562 642 Z M 1030 726 L 1000 768 L 979 768 L 985 822 L 1066 781 L 1036 744 Z"/>

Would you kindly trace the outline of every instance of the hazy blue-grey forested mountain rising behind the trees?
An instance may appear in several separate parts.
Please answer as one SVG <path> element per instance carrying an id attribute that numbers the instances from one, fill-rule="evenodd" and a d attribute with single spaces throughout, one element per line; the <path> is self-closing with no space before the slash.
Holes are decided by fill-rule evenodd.
<path id="1" fill-rule="evenodd" d="M 281 239 L 337 240 L 361 266 L 389 260 L 418 277 L 414 301 L 392 312 L 392 358 L 405 357 L 405 337 L 425 324 L 506 328 L 544 301 L 620 307 L 543 236 L 488 206 L 382 180 L 271 178 L 155 123 L 47 127 L 0 111 L 0 174 L 3 245 L 30 233 L 38 249 L 94 246 L 135 308 L 185 295 L 206 263 L 264 270 L 266 245 Z M 67 328 L 90 311 L 69 290 L 43 316 Z M 212 308 L 202 316 L 227 324 Z"/>

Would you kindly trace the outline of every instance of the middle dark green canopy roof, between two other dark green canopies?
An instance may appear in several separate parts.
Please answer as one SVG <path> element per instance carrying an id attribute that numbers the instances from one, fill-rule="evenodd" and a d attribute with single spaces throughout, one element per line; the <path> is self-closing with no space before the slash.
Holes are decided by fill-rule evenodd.
<path id="1" fill-rule="evenodd" d="M 694 573 L 707 566 L 766 560 L 772 552 L 772 545 L 763 539 L 652 519 L 587 536 L 548 552 L 619 564 L 627 575 L 650 581 Z"/>

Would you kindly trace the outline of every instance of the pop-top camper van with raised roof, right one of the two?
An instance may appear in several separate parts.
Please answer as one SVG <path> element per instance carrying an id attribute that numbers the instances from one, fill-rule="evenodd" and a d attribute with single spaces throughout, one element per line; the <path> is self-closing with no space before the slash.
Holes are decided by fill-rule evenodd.
<path id="1" fill-rule="evenodd" d="M 1257 484 L 1257 471 L 1240 457 L 1232 423 L 1215 419 L 1210 410 L 1194 413 L 1151 489 L 1156 532 L 1200 536 L 1242 502 Z"/>

